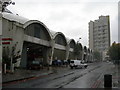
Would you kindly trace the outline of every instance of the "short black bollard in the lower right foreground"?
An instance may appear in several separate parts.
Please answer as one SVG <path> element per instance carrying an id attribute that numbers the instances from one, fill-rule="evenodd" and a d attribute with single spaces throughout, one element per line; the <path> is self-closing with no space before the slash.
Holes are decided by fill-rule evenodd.
<path id="1" fill-rule="evenodd" d="M 104 75 L 104 87 L 112 88 L 112 75 L 110 74 Z"/>

